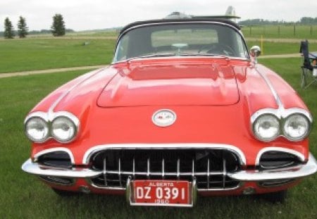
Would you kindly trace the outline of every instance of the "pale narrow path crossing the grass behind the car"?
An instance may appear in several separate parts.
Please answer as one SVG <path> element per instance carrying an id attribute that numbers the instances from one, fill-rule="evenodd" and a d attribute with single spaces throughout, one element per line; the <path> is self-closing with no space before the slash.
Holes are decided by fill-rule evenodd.
<path id="1" fill-rule="evenodd" d="M 301 54 L 278 54 L 278 55 L 265 55 L 260 56 L 261 58 L 299 58 Z M 25 75 L 37 75 L 37 74 L 47 74 L 47 73 L 63 73 L 67 71 L 73 70 L 90 70 L 90 69 L 97 69 L 97 68 L 104 68 L 107 65 L 92 65 L 92 66 L 82 66 L 82 67 L 73 67 L 73 68 L 55 68 L 55 69 L 47 69 L 47 70 L 30 70 L 25 72 L 19 73 L 1 73 L 0 78 L 3 77 L 14 77 L 14 76 L 25 76 Z"/>

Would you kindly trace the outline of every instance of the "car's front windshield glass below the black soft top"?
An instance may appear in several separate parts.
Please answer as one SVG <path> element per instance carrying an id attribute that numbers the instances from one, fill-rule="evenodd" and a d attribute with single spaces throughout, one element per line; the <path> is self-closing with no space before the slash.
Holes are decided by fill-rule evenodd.
<path id="1" fill-rule="evenodd" d="M 220 24 L 164 24 L 126 32 L 113 62 L 160 56 L 230 56 L 247 58 L 244 40 L 233 27 Z"/>

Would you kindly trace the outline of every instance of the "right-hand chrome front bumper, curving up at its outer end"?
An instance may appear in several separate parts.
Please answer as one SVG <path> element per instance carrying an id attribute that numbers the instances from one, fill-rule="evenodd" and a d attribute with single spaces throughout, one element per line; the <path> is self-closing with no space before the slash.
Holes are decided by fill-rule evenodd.
<path id="1" fill-rule="evenodd" d="M 242 170 L 237 173 L 228 173 L 228 176 L 238 181 L 266 181 L 285 180 L 306 177 L 317 172 L 317 162 L 312 154 L 309 161 L 292 168 L 280 168 L 276 170 Z"/>

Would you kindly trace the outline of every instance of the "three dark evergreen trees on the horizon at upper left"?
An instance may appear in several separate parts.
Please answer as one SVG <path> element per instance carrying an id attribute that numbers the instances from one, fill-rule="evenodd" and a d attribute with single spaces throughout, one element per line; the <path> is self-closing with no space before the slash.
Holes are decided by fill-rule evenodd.
<path id="1" fill-rule="evenodd" d="M 51 32 L 51 34 L 54 37 L 60 37 L 65 35 L 66 32 L 73 32 L 73 30 L 66 29 L 65 22 L 63 20 L 63 15 L 56 13 L 53 17 L 53 23 L 51 25 L 51 30 L 41 30 L 41 31 L 31 31 L 29 32 L 29 28 L 27 27 L 27 23 L 25 18 L 20 16 L 18 20 L 18 30 L 15 31 L 14 27 L 11 23 L 11 20 L 9 18 L 6 18 L 4 20 L 4 32 L 2 33 L 4 38 L 6 39 L 13 39 L 15 35 L 18 35 L 20 38 L 25 38 L 29 33 L 36 34 L 36 33 L 48 33 Z"/>

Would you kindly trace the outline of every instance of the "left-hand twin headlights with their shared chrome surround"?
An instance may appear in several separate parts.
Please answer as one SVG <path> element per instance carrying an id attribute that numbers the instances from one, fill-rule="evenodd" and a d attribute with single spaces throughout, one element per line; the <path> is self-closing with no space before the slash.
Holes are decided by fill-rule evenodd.
<path id="1" fill-rule="evenodd" d="M 51 137 L 57 142 L 68 143 L 75 139 L 79 125 L 78 118 L 68 112 L 54 113 L 52 118 L 37 112 L 25 119 L 25 134 L 35 143 L 46 142 Z"/>

